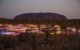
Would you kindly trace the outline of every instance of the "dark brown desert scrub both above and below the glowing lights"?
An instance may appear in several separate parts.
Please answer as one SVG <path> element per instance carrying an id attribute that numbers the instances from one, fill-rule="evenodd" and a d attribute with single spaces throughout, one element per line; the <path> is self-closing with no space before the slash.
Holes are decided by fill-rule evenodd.
<path id="1" fill-rule="evenodd" d="M 6 21 L 6 22 L 5 22 Z M 66 27 L 75 27 L 80 29 L 79 20 L 0 20 L 0 23 L 32 23 L 37 24 L 55 24 L 60 25 L 61 30 Z M 56 32 L 56 31 L 55 31 Z M 24 33 L 17 36 L 0 35 L 0 50 L 80 50 L 80 34 L 78 31 L 71 34 L 37 34 Z"/>

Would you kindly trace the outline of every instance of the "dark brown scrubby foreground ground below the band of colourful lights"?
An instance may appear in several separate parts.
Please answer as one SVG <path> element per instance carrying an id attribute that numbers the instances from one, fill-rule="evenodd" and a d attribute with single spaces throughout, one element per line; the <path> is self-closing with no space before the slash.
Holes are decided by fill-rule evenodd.
<path id="1" fill-rule="evenodd" d="M 80 35 L 0 35 L 0 50 L 80 50 Z"/>

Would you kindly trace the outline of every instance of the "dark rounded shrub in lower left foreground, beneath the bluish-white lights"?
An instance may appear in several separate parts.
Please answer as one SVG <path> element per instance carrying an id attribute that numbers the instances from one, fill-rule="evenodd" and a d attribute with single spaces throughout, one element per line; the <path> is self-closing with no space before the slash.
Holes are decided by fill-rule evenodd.
<path id="1" fill-rule="evenodd" d="M 4 48 L 14 48 L 19 44 L 19 40 L 16 36 L 3 36 L 1 43 L 4 44 Z"/>

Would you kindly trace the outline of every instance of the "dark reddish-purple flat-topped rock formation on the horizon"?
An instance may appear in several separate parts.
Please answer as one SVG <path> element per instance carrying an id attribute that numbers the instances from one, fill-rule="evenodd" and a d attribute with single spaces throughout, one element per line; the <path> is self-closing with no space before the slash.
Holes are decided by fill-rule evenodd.
<path id="1" fill-rule="evenodd" d="M 24 13 L 17 15 L 14 19 L 66 20 L 67 18 L 56 13 Z"/>

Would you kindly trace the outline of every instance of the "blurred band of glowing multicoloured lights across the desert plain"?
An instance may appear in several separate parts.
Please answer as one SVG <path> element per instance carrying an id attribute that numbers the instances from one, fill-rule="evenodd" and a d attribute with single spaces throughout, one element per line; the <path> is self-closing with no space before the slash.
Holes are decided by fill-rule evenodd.
<path id="1" fill-rule="evenodd" d="M 38 25 L 34 24 L 0 24 L 0 34 L 2 35 L 19 35 L 23 33 L 38 33 L 38 34 L 44 34 L 43 30 L 48 29 L 50 31 L 50 34 L 54 34 L 54 29 L 57 29 L 56 34 L 70 34 L 70 31 L 74 34 L 76 33 L 76 28 L 72 27 L 67 27 L 67 31 L 62 30 L 59 25 L 54 25 L 52 26 L 51 24 L 49 25 L 40 25 L 40 28 Z M 79 32 L 80 30 L 78 30 Z M 80 32 L 79 32 L 80 33 Z"/>

